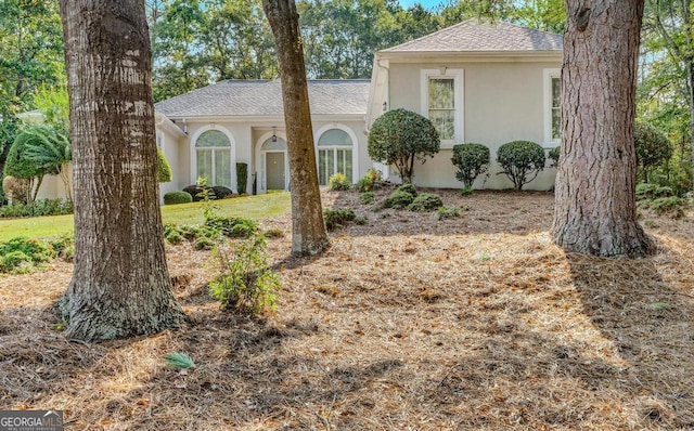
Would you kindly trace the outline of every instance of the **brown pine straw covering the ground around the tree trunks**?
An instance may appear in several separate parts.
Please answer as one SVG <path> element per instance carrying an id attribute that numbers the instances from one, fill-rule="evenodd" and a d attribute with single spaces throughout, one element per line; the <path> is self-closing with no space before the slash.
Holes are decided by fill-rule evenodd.
<path id="1" fill-rule="evenodd" d="M 168 257 L 190 323 L 152 337 L 67 342 L 67 263 L 0 278 L 0 409 L 63 409 L 69 430 L 694 429 L 691 214 L 645 214 L 659 253 L 607 260 L 552 244 L 551 194 L 438 192 L 468 210 L 326 193 L 369 222 L 316 259 L 271 240 L 283 289 L 259 319 L 219 310 L 187 245 Z"/>

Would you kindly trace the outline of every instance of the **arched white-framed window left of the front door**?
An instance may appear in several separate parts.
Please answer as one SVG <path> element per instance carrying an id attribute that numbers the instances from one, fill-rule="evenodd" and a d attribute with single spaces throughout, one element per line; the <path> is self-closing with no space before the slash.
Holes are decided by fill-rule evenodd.
<path id="1" fill-rule="evenodd" d="M 197 152 L 197 178 L 207 180 L 207 185 L 223 185 L 231 188 L 231 142 L 219 130 L 208 130 L 195 142 Z"/>

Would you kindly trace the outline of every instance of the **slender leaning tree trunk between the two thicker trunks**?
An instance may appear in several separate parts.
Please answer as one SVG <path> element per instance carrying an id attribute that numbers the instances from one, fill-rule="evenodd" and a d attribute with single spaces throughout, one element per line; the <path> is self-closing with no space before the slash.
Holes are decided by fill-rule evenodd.
<path id="1" fill-rule="evenodd" d="M 294 0 L 262 0 L 280 61 L 292 190 L 292 251 L 316 254 L 329 246 L 318 186 L 304 44 Z"/>

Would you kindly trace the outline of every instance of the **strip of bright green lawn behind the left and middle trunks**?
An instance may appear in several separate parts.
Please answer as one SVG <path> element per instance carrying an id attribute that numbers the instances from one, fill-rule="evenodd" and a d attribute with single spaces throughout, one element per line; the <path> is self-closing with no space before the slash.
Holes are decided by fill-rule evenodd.
<path id="1" fill-rule="evenodd" d="M 163 206 L 164 223 L 201 224 L 204 220 L 201 206 L 201 203 Z M 215 201 L 215 207 L 219 216 L 266 219 L 290 211 L 290 194 L 271 193 L 223 199 Z M 0 219 L 0 241 L 17 236 L 43 238 L 65 234 L 73 234 L 73 216 Z"/>

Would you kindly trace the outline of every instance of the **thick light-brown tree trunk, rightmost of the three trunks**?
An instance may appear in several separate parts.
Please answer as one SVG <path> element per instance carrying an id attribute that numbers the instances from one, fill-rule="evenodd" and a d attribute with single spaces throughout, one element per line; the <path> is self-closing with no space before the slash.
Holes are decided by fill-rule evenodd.
<path id="1" fill-rule="evenodd" d="M 638 257 L 653 241 L 637 221 L 633 144 L 643 0 L 566 0 L 562 155 L 554 240 L 569 251 Z"/>

